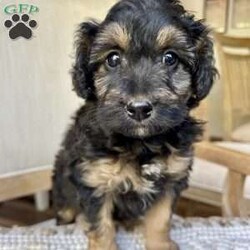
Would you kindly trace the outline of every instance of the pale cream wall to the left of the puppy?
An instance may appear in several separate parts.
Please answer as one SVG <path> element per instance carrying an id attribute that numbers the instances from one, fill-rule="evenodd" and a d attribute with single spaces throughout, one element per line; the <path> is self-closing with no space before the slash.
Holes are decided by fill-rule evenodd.
<path id="1" fill-rule="evenodd" d="M 30 40 L 11 40 L 0 2 L 0 174 L 51 164 L 72 112 L 73 34 L 87 17 L 102 19 L 114 0 L 42 0 Z M 18 1 L 21 2 L 21 1 Z"/>

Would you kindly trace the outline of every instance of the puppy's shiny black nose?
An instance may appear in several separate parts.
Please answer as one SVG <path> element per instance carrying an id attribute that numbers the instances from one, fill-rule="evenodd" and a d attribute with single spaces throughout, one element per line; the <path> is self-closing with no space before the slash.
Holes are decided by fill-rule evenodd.
<path id="1" fill-rule="evenodd" d="M 153 106 L 147 101 L 130 102 L 126 106 L 128 116 L 137 121 L 149 118 L 153 111 Z"/>

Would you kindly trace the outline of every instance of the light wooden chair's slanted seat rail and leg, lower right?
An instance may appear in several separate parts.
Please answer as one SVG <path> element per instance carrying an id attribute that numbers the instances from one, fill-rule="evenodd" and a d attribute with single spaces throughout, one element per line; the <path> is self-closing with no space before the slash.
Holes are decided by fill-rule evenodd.
<path id="1" fill-rule="evenodd" d="M 196 155 L 228 170 L 224 190 L 219 196 L 223 216 L 247 216 L 250 202 L 244 199 L 243 190 L 246 177 L 250 175 L 250 154 L 203 142 L 197 145 Z M 218 195 L 210 198 L 218 202 Z"/>

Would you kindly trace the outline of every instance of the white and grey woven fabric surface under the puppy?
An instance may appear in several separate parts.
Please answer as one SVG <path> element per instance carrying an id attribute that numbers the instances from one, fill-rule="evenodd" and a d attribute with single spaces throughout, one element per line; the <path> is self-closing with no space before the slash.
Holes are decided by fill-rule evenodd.
<path id="1" fill-rule="evenodd" d="M 174 217 L 171 237 L 181 250 L 250 250 L 250 219 Z M 141 234 L 120 230 L 120 250 L 145 250 Z M 77 225 L 0 228 L 0 250 L 87 250 Z"/>

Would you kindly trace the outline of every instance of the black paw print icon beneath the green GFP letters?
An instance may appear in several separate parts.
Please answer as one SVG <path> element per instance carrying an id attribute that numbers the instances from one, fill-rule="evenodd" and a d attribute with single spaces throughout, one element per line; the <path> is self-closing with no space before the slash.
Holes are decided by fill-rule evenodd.
<path id="1" fill-rule="evenodd" d="M 23 14 L 22 16 L 14 14 L 11 19 L 4 22 L 4 26 L 9 29 L 9 37 L 11 39 L 18 37 L 30 39 L 33 35 L 32 30 L 37 26 L 37 22 L 30 20 L 27 14 Z"/>

